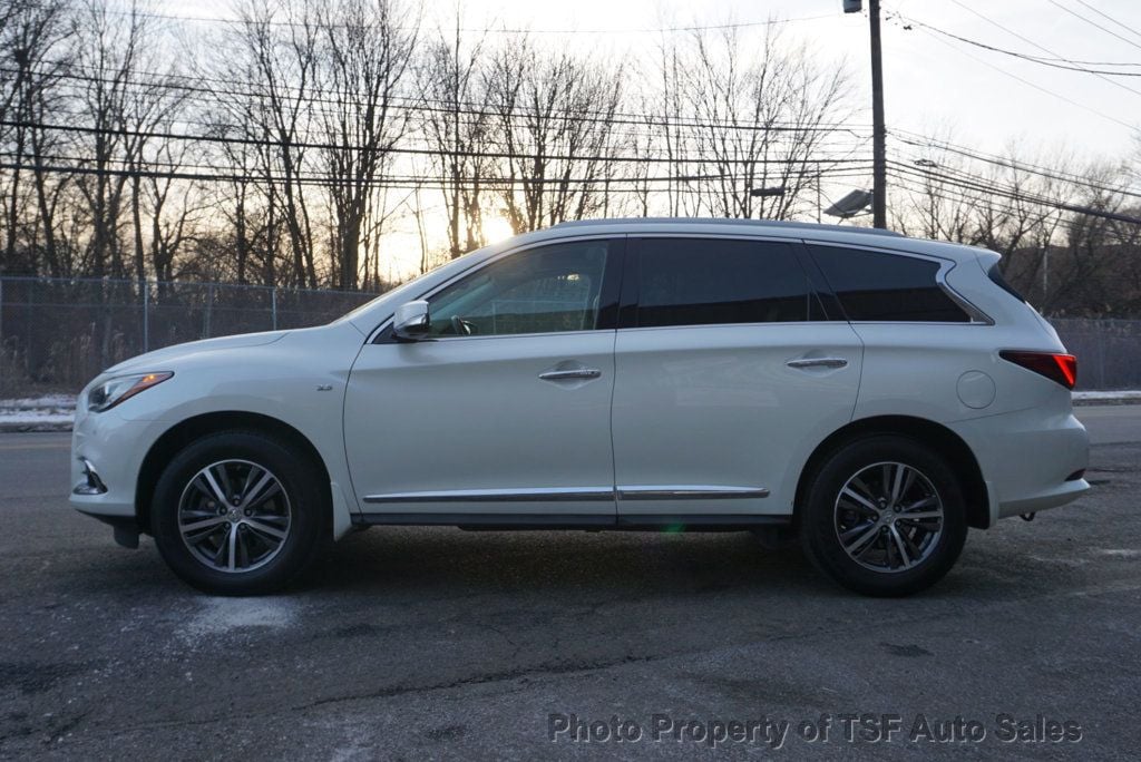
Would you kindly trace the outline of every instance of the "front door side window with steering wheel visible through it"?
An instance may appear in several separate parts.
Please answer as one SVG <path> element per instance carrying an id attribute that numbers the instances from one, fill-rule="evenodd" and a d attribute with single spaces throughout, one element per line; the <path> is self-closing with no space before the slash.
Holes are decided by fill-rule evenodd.
<path id="1" fill-rule="evenodd" d="M 590 331 L 609 242 L 582 241 L 511 254 L 428 300 L 434 335 Z"/>

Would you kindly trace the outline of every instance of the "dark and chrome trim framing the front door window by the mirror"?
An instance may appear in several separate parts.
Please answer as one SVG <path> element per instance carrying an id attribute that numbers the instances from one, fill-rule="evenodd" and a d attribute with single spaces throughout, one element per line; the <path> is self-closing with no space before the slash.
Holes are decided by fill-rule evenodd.
<path id="1" fill-rule="evenodd" d="M 550 241 L 540 241 L 533 244 L 527 244 L 519 246 L 517 249 L 509 249 L 507 251 L 500 252 L 495 257 L 487 259 L 478 265 L 469 267 L 462 273 L 456 273 L 454 277 L 448 278 L 444 283 L 437 284 L 435 287 L 428 291 L 421 292 L 420 294 L 412 297 L 408 301 L 415 301 L 419 299 L 431 299 L 439 292 L 448 289 L 460 281 L 471 277 L 486 267 L 491 267 L 497 262 L 503 261 L 509 257 L 516 254 L 523 254 L 528 251 L 535 251 L 537 249 L 543 249 L 550 245 L 567 244 L 567 243 L 580 243 L 585 241 L 607 241 L 608 250 L 606 252 L 606 268 L 602 273 L 602 287 L 599 297 L 598 303 L 598 325 L 594 329 L 588 329 L 585 331 L 549 331 L 542 333 L 508 333 L 502 335 L 471 335 L 471 337 L 436 337 L 431 339 L 424 339 L 424 341 L 455 341 L 455 340 L 486 340 L 486 339 L 512 339 L 523 337 L 536 337 L 536 335 L 560 335 L 566 333 L 593 333 L 594 331 L 613 331 L 614 324 L 616 323 L 618 313 L 618 293 L 621 289 L 621 277 L 623 274 L 623 265 L 626 258 L 628 240 L 629 235 L 625 234 L 606 234 L 606 235 L 584 235 L 574 236 L 567 238 L 553 238 Z M 609 323 L 609 325 L 607 325 Z M 365 342 L 366 344 L 394 344 L 402 343 L 396 340 L 393 334 L 393 316 L 389 316 L 377 326 L 373 338 Z"/>

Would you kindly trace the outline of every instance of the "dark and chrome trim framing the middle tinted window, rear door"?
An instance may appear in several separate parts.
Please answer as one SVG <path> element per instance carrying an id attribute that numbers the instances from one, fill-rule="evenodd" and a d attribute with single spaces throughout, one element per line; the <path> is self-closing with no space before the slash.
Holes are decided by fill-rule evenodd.
<path id="1" fill-rule="evenodd" d="M 717 235 L 709 233 L 637 233 L 628 236 L 626 251 L 625 251 L 625 269 L 622 276 L 622 295 L 620 299 L 618 307 L 618 325 L 620 330 L 626 329 L 640 329 L 641 330 L 661 330 L 667 327 L 702 327 L 698 325 L 691 326 L 639 326 L 638 325 L 638 306 L 639 306 L 639 286 L 641 282 L 641 265 L 642 265 L 642 242 L 650 238 L 696 238 L 701 241 L 747 241 L 751 243 L 777 243 L 785 244 L 792 249 L 793 256 L 796 262 L 800 265 L 808 278 L 809 294 L 810 299 L 815 299 L 816 303 L 820 307 L 824 313 L 823 321 L 795 321 L 795 323 L 827 323 L 827 322 L 848 322 L 847 316 L 840 309 L 840 302 L 832 293 L 831 287 L 827 285 L 827 279 L 816 267 L 816 262 L 812 261 L 808 253 L 808 246 L 800 238 L 785 238 L 785 237 L 766 237 L 756 235 Z M 705 326 L 719 326 L 719 325 L 788 325 L 788 323 L 709 323 L 703 324 Z"/>

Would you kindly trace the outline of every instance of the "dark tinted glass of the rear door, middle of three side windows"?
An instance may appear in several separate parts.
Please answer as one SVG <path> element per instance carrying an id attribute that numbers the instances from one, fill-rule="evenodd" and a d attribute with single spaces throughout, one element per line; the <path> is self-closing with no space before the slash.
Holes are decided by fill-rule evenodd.
<path id="1" fill-rule="evenodd" d="M 638 325 L 784 323 L 818 310 L 791 244 L 645 238 Z"/>

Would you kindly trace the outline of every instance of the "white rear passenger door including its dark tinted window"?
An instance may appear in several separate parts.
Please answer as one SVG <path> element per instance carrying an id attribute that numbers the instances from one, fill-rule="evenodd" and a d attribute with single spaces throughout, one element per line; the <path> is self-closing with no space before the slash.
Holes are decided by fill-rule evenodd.
<path id="1" fill-rule="evenodd" d="M 620 520 L 786 516 L 851 420 L 863 347 L 796 241 L 631 238 L 615 342 Z"/>

